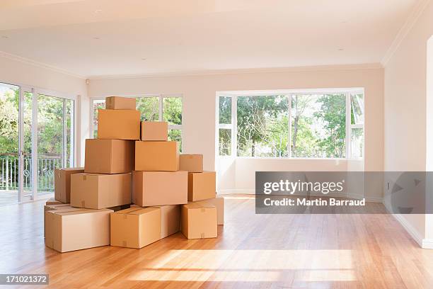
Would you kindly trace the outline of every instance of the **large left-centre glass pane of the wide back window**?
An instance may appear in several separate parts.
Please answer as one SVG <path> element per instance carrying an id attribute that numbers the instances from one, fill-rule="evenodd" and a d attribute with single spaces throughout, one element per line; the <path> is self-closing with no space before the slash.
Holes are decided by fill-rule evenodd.
<path id="1" fill-rule="evenodd" d="M 239 157 L 287 157 L 287 96 L 239 96 Z"/>

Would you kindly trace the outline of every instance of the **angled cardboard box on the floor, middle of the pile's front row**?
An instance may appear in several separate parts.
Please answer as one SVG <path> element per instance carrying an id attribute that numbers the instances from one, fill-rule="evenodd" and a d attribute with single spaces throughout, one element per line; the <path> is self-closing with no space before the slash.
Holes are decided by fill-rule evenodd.
<path id="1" fill-rule="evenodd" d="M 140 249 L 161 238 L 161 208 L 129 208 L 110 214 L 110 244 Z"/>

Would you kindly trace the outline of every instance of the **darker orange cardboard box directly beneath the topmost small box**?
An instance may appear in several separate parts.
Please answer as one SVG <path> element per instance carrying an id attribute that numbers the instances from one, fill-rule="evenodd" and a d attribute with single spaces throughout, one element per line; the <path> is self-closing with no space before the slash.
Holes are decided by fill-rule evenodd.
<path id="1" fill-rule="evenodd" d="M 140 112 L 127 109 L 98 110 L 98 139 L 139 140 Z"/>

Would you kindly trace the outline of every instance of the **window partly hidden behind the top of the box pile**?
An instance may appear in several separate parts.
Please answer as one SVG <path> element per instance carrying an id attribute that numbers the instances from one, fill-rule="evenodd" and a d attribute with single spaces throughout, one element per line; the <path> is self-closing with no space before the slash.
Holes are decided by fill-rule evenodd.
<path id="1" fill-rule="evenodd" d="M 178 142 L 182 152 L 182 97 L 181 96 L 137 96 L 137 110 L 141 120 L 168 122 L 168 140 Z M 93 138 L 98 137 L 98 109 L 105 108 L 105 98 L 93 99 L 92 131 Z"/>

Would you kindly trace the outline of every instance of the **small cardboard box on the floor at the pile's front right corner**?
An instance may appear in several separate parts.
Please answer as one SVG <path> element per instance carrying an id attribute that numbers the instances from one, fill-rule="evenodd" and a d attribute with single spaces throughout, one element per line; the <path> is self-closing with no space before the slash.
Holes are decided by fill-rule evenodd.
<path id="1" fill-rule="evenodd" d="M 183 205 L 182 233 L 187 239 L 217 237 L 217 208 L 209 204 Z"/>

